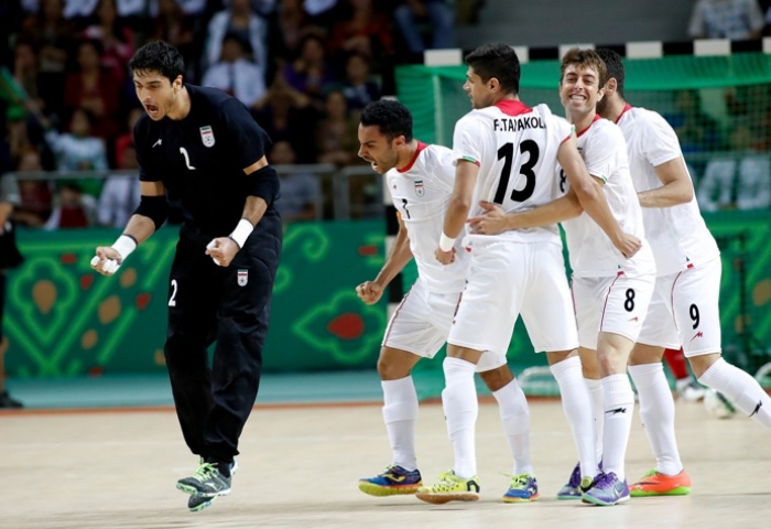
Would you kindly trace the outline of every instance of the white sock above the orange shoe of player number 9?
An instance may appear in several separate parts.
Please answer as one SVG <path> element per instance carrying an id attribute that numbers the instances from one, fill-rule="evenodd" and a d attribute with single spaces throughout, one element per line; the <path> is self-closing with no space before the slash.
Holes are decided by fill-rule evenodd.
<path id="1" fill-rule="evenodd" d="M 675 407 L 661 361 L 629 366 L 640 398 L 640 420 L 655 455 L 655 469 L 674 476 L 683 469 L 675 438 Z"/>

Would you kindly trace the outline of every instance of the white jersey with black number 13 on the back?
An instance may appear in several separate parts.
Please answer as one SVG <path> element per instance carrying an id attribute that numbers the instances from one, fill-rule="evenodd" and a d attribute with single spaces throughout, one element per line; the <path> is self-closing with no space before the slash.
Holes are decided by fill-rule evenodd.
<path id="1" fill-rule="evenodd" d="M 480 201 L 499 204 L 507 213 L 552 202 L 558 195 L 554 179 L 557 151 L 572 131 L 573 126 L 554 116 L 546 105 L 529 108 L 518 100 L 499 101 L 460 118 L 453 136 L 455 158 L 479 165 L 469 215 L 485 213 Z M 471 240 L 478 237 L 562 245 L 556 224 L 469 235 Z"/>

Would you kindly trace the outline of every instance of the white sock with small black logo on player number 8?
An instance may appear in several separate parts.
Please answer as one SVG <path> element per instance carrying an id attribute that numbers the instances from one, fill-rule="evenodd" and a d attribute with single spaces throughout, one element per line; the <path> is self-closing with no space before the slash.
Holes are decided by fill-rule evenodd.
<path id="1" fill-rule="evenodd" d="M 634 391 L 627 374 L 602 378 L 605 400 L 605 432 L 602 435 L 602 471 L 613 472 L 620 481 L 626 477 L 623 458 L 627 455 L 629 432 L 634 414 Z"/>

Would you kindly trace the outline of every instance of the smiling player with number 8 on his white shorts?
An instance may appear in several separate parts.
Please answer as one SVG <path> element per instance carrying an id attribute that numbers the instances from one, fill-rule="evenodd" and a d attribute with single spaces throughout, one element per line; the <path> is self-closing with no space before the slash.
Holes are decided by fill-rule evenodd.
<path id="1" fill-rule="evenodd" d="M 489 213 L 469 220 L 474 233 L 495 234 L 507 228 L 562 222 L 565 228 L 580 357 L 585 376 L 600 378 L 601 393 L 593 399 L 601 444 L 602 471 L 593 481 L 582 479 L 576 467 L 561 499 L 580 497 L 596 505 L 616 505 L 629 499 L 625 478 L 625 454 L 629 441 L 634 393 L 627 376 L 627 361 L 643 325 L 655 282 L 655 261 L 644 242 L 642 212 L 629 174 L 627 145 L 621 130 L 596 111 L 607 77 L 605 63 L 593 50 L 569 50 L 562 60 L 560 98 L 568 120 L 576 127 L 578 149 L 587 170 L 601 185 L 615 218 L 643 246 L 626 258 L 613 248 L 599 226 L 580 205 L 568 182 L 560 177 L 565 197 L 522 214 L 504 215 L 485 204 Z M 562 176 L 562 175 L 561 175 Z M 574 217 L 574 218 L 571 218 Z M 598 409 L 599 408 L 599 409 Z"/>

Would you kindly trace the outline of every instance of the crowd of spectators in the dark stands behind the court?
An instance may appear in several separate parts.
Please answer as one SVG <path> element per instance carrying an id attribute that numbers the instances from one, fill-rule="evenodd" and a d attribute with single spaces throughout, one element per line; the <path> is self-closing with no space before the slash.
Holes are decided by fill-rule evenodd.
<path id="1" fill-rule="evenodd" d="M 142 108 L 127 63 L 153 39 L 180 48 L 185 80 L 239 98 L 273 139 L 273 163 L 361 164 L 357 112 L 384 90 L 394 64 L 426 47 L 455 47 L 463 0 L 22 0 L 0 8 L 0 75 L 7 117 L 0 128 L 0 173 L 111 170 L 107 180 L 20 182 L 19 225 L 55 229 L 122 227 L 135 207 L 137 156 L 131 130 Z M 757 0 L 699 0 L 693 37 L 759 37 L 771 10 Z M 763 9 L 761 9 L 761 7 Z M 723 11 L 720 11 L 723 10 Z M 765 28 L 765 29 L 764 29 Z M 11 77 L 11 79 L 7 78 Z M 21 89 L 14 90 L 18 86 Z M 10 88 L 9 88 L 10 87 Z M 748 161 L 718 160 L 694 168 L 706 184 L 707 209 L 769 207 L 769 145 L 742 121 L 746 98 L 732 94 L 737 127 L 720 130 L 702 111 L 698 93 L 684 90 L 671 116 L 684 151 L 728 148 Z M 768 89 L 764 99 L 768 97 Z M 30 98 L 32 105 L 24 104 Z M 678 96 L 681 97 L 681 96 Z M 32 111 L 30 111 L 32 108 Z M 758 109 L 752 109 L 758 116 Z M 771 108 L 765 109 L 771 116 Z M 769 122 L 761 123 L 769 128 Z M 768 138 L 768 134 L 765 136 Z M 754 155 L 760 153 L 760 155 Z M 742 181 L 743 179 L 743 181 Z M 763 180 L 765 179 L 765 180 Z M 287 220 L 318 218 L 316 177 L 284 176 Z M 746 181 L 746 182 L 745 182 Z M 745 182 L 745 197 L 737 196 Z M 767 196 L 768 195 L 768 196 Z M 743 202 L 742 202 L 743 201 Z"/>

